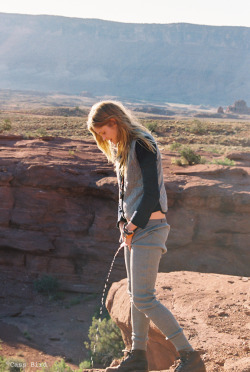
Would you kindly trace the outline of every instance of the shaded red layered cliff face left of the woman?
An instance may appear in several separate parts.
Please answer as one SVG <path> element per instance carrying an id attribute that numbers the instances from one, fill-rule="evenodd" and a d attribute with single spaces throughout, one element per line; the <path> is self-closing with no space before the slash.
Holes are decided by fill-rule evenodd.
<path id="1" fill-rule="evenodd" d="M 118 242 L 112 166 L 93 141 L 10 137 L 0 149 L 1 268 L 100 291 Z"/>

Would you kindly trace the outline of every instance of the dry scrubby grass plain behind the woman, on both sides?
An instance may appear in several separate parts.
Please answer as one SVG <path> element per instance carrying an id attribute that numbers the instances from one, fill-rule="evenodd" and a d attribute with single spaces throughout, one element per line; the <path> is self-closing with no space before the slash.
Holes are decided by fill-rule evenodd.
<path id="1" fill-rule="evenodd" d="M 71 109 L 72 111 L 72 109 Z M 70 111 L 70 112 L 71 112 Z M 65 108 L 57 112 L 51 108 L 34 111 L 1 111 L 0 132 L 23 135 L 25 138 L 60 136 L 81 139 L 91 136 L 86 127 L 87 111 L 81 116 L 68 116 Z M 56 116 L 58 114 L 58 116 Z M 73 115 L 77 115 L 77 110 Z M 4 123 L 11 128 L 4 129 Z M 188 145 L 193 150 L 211 155 L 226 155 L 228 152 L 250 151 L 250 121 L 235 119 L 173 118 L 171 120 L 147 120 L 142 123 L 153 128 L 161 148 L 170 150 L 171 144 Z"/>

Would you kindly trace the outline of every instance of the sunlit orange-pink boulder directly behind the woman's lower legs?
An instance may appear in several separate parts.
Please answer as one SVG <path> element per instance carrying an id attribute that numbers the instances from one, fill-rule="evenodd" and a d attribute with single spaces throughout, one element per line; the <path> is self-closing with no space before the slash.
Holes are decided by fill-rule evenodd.
<path id="1" fill-rule="evenodd" d="M 207 371 L 222 371 L 224 365 L 227 371 L 249 371 L 248 288 L 248 278 L 229 275 L 184 271 L 157 276 L 157 297 L 176 316 L 192 346 L 200 351 Z M 129 348 L 130 301 L 126 279 L 112 285 L 106 306 Z M 177 356 L 172 343 L 165 340 L 152 322 L 147 354 L 151 371 L 169 370 Z"/>

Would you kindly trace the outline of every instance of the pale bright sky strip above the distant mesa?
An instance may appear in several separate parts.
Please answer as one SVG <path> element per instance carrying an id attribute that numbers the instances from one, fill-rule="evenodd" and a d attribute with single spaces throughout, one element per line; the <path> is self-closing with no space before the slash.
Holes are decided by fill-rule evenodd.
<path id="1" fill-rule="evenodd" d="M 0 12 L 250 27 L 250 0 L 7 0 L 1 1 Z"/>

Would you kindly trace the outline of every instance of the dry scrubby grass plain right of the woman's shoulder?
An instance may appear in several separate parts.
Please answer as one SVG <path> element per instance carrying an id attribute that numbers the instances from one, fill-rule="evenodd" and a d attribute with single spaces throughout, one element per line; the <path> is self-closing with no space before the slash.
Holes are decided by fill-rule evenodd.
<path id="1" fill-rule="evenodd" d="M 188 145 L 195 151 L 211 154 L 227 154 L 232 151 L 250 151 L 250 121 L 231 119 L 182 118 L 159 120 L 155 135 L 165 149 L 171 144 Z"/>

